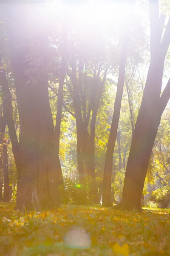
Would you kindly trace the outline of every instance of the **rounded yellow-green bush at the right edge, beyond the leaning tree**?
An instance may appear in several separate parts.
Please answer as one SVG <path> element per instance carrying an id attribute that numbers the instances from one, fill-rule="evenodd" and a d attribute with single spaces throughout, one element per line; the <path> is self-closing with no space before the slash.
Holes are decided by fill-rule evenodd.
<path id="1" fill-rule="evenodd" d="M 168 208 L 170 204 L 170 187 L 163 186 L 161 189 L 154 190 L 150 196 L 150 201 L 159 204 L 160 208 Z"/>

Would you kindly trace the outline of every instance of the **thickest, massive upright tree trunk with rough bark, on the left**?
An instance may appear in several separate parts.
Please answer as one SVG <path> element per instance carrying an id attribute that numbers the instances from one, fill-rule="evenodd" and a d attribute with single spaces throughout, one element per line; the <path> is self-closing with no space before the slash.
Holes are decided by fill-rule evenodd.
<path id="1" fill-rule="evenodd" d="M 31 79 L 28 73 L 32 64 L 27 59 L 27 56 L 31 55 L 31 45 L 27 38 L 29 29 L 25 26 L 27 18 L 27 10 L 21 5 L 11 10 L 8 20 L 8 38 L 20 117 L 20 165 L 17 166 L 16 209 L 39 211 L 59 205 L 56 166 L 60 163 L 59 156 L 54 155 L 55 132 L 48 99 L 46 70 L 40 67 L 39 73 L 32 74 L 34 79 Z M 34 40 L 39 47 L 36 48 L 36 56 L 31 56 L 40 58 L 45 65 L 42 60 L 43 52 L 40 50 L 44 47 L 45 38 L 40 38 L 38 30 L 36 35 Z"/>

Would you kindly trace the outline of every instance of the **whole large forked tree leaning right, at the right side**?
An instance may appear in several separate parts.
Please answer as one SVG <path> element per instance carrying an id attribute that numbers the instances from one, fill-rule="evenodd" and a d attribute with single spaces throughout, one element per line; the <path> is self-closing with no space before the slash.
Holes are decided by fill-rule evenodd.
<path id="1" fill-rule="evenodd" d="M 161 94 L 164 60 L 170 44 L 170 18 L 162 37 L 163 23 L 164 15 L 159 18 L 159 1 L 150 0 L 150 66 L 127 161 L 122 201 L 116 209 L 142 210 L 147 166 L 161 115 L 170 98 L 170 79 Z"/>

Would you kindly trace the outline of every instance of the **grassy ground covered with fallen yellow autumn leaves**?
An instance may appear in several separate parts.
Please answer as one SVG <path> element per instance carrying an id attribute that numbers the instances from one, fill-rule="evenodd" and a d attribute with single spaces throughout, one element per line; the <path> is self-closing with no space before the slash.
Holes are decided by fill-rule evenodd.
<path id="1" fill-rule="evenodd" d="M 170 209 L 120 212 L 63 206 L 23 214 L 0 204 L 3 256 L 170 255 Z"/>

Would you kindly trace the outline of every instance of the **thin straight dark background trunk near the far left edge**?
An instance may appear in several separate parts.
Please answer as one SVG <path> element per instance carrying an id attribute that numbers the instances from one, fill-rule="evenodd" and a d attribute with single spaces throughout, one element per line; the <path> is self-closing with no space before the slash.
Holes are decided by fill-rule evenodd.
<path id="1" fill-rule="evenodd" d="M 8 153 L 6 139 L 3 140 L 3 202 L 9 202 Z"/>

